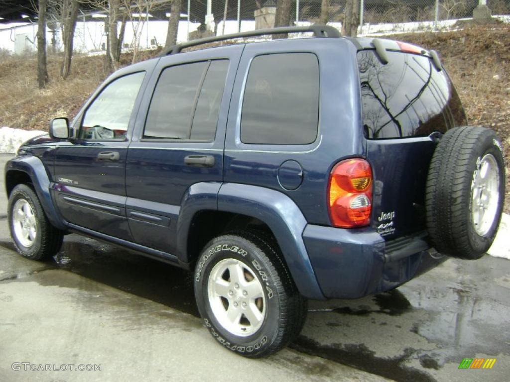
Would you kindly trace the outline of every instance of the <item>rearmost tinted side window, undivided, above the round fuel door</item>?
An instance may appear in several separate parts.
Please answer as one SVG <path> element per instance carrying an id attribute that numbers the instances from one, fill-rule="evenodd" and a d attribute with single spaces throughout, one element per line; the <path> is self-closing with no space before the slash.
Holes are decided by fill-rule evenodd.
<path id="1" fill-rule="evenodd" d="M 317 138 L 319 62 L 313 53 L 253 59 L 241 113 L 241 141 L 303 145 Z"/>

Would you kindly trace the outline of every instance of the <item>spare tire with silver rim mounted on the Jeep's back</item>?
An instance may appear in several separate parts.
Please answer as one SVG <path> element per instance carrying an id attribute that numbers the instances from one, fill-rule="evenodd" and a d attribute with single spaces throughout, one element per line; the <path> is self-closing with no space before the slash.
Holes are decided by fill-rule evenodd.
<path id="1" fill-rule="evenodd" d="M 491 247 L 503 209 L 505 167 L 494 131 L 457 127 L 441 138 L 428 170 L 425 205 L 432 245 L 479 259 Z"/>

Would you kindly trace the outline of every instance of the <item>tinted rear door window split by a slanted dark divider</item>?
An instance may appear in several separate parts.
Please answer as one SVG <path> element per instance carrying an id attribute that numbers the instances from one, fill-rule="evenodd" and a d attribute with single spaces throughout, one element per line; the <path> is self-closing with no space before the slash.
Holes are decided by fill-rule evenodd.
<path id="1" fill-rule="evenodd" d="M 163 70 L 150 101 L 143 138 L 213 141 L 228 60 Z"/>

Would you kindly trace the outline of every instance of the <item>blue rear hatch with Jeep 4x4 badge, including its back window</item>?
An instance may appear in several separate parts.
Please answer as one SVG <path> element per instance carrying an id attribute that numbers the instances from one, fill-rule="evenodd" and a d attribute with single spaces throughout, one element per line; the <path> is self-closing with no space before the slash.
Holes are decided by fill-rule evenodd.
<path id="1" fill-rule="evenodd" d="M 425 230 L 433 150 L 440 135 L 466 124 L 466 117 L 435 53 L 389 40 L 362 42 L 367 48 L 358 52 L 358 65 L 374 179 L 372 227 L 392 239 Z"/>

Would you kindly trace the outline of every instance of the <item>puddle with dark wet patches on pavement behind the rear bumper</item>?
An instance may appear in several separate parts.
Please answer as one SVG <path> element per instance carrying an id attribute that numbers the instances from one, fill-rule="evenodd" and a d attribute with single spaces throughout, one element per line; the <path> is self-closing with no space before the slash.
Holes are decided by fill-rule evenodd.
<path id="1" fill-rule="evenodd" d="M 494 283 L 508 273 L 510 263 L 490 257 L 483 266 L 451 261 L 437 279 L 424 275 L 357 301 L 311 304 L 308 324 L 313 330 L 305 330 L 291 346 L 387 378 L 418 382 L 436 380 L 436 370 L 448 362 L 510 354 L 508 289 Z M 410 340 L 407 331 L 419 337 Z M 329 338 L 314 335 L 320 332 Z M 393 334 L 391 350 L 381 351 L 381 341 L 388 341 L 384 334 Z"/>

